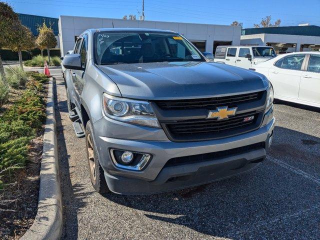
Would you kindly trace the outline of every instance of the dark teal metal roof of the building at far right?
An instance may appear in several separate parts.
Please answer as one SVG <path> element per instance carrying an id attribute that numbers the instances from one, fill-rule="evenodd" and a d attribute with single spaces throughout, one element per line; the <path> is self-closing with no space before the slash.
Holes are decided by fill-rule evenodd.
<path id="1" fill-rule="evenodd" d="M 320 26 L 307 25 L 307 26 L 277 26 L 277 27 L 244 28 L 242 29 L 241 35 L 251 35 L 251 34 L 260 34 L 260 33 L 320 36 Z"/>

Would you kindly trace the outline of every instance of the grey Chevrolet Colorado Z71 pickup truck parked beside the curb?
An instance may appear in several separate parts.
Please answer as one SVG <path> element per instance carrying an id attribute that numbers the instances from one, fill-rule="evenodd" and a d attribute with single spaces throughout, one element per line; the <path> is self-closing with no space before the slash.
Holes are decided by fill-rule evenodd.
<path id="1" fill-rule="evenodd" d="M 88 29 L 62 64 L 97 192 L 190 187 L 265 159 L 274 127 L 269 81 L 207 61 L 176 32 Z"/>

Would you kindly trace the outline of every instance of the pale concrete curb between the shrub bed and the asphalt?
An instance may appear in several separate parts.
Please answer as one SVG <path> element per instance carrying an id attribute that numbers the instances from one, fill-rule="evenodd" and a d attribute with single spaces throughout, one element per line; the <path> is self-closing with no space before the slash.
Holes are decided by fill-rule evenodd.
<path id="1" fill-rule="evenodd" d="M 22 240 L 59 239 L 62 231 L 62 195 L 55 133 L 53 81 L 50 78 L 43 134 L 38 210 Z"/>

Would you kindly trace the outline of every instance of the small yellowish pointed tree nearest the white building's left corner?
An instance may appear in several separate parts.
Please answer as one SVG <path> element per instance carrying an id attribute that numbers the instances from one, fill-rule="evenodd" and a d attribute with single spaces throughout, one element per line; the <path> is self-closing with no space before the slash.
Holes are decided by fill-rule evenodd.
<path id="1" fill-rule="evenodd" d="M 50 63 L 50 48 L 56 46 L 56 39 L 53 34 L 51 26 L 47 26 L 43 21 L 42 25 L 38 27 L 39 35 L 35 40 L 40 49 L 46 49 L 48 53 L 48 62 Z"/>

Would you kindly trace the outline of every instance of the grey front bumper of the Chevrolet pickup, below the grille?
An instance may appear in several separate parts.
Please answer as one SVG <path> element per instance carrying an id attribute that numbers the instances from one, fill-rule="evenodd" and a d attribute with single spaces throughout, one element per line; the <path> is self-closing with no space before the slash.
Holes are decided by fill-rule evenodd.
<path id="1" fill-rule="evenodd" d="M 117 127 L 115 124 L 118 124 Z M 104 170 L 107 185 L 111 191 L 121 194 L 146 194 L 179 189 L 250 170 L 265 158 L 265 149 L 268 148 L 273 127 L 272 109 L 265 114 L 262 126 L 254 131 L 196 142 L 172 142 L 165 137 L 162 129 L 118 123 L 106 117 L 93 124 L 100 165 Z M 110 137 L 115 135 L 126 135 L 126 139 Z M 133 136 L 135 139 L 127 139 Z M 164 167 L 170 158 L 223 151 L 257 142 L 265 142 L 265 148 L 221 159 Z M 110 148 L 149 153 L 152 154 L 152 159 L 141 171 L 118 168 L 111 161 Z"/>

